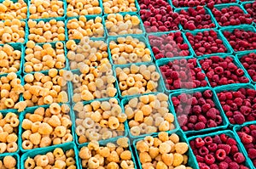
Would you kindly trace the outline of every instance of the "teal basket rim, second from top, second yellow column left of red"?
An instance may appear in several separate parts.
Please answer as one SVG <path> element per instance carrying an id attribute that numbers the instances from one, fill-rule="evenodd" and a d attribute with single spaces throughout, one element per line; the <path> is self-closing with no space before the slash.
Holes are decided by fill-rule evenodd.
<path id="1" fill-rule="evenodd" d="M 86 20 L 88 21 L 88 20 L 95 20 L 96 19 L 96 17 L 101 17 L 102 18 L 102 16 L 101 15 L 84 15 L 85 16 L 85 18 L 86 18 Z M 68 23 L 68 21 L 69 20 L 73 20 L 73 19 L 77 19 L 77 20 L 79 20 L 79 17 L 80 16 L 73 16 L 73 17 L 69 17 L 69 18 L 67 18 L 67 20 L 65 20 L 65 32 L 66 32 L 66 41 L 68 41 L 68 40 L 71 40 L 71 39 L 69 39 L 69 37 L 68 37 L 68 29 L 67 29 L 67 23 Z M 86 21 L 86 22 L 87 22 Z M 102 26 L 104 27 L 104 21 L 103 21 L 103 18 L 102 18 Z M 99 40 L 99 39 L 105 39 L 106 38 L 106 30 L 104 29 L 104 35 L 103 35 L 103 37 L 95 37 L 95 36 L 92 36 L 92 37 L 90 37 L 90 38 L 94 38 L 94 39 L 96 39 L 96 40 Z M 73 40 L 79 40 L 79 39 L 73 39 Z"/>

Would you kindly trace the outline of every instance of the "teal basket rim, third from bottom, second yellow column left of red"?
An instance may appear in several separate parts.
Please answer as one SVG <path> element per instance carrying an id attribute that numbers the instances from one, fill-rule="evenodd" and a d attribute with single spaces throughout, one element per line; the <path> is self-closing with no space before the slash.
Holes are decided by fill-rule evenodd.
<path id="1" fill-rule="evenodd" d="M 73 72 L 73 75 L 78 75 L 78 76 L 80 76 L 80 75 L 82 74 L 79 70 L 72 70 L 72 72 Z M 115 71 L 113 71 L 113 76 L 116 77 L 116 76 L 115 76 Z M 73 100 L 74 90 L 75 90 L 76 88 L 74 87 L 73 82 L 67 82 L 67 83 L 68 83 L 68 93 L 70 94 L 69 97 L 70 97 L 71 103 L 72 103 L 72 104 L 76 104 L 76 102 Z M 79 83 L 82 83 L 82 82 L 79 82 Z M 116 91 L 116 93 L 115 93 L 115 95 L 114 95 L 114 98 L 118 98 L 119 92 L 118 92 L 118 82 L 117 82 L 117 79 L 115 80 L 115 82 L 113 82 L 113 86 L 114 86 L 115 88 L 117 88 L 117 91 Z M 106 86 L 105 89 L 107 89 L 107 86 Z M 107 93 L 106 93 L 106 94 L 107 94 Z M 109 99 L 109 98 L 112 98 L 112 97 L 106 95 L 106 96 L 102 96 L 102 98 L 95 98 L 95 99 Z M 93 100 L 95 100 L 95 99 L 93 99 Z M 83 100 L 83 101 L 84 101 L 84 103 L 86 103 L 86 102 L 90 102 L 90 101 L 92 101 L 92 100 L 88 100 L 88 101 Z"/>

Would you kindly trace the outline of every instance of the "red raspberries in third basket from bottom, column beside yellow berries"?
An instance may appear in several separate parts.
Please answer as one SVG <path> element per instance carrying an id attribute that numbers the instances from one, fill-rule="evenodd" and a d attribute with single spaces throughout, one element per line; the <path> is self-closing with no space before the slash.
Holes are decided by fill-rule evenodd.
<path id="1" fill-rule="evenodd" d="M 207 86 L 206 75 L 197 66 L 196 59 L 175 59 L 161 65 L 160 71 L 168 90 Z"/>

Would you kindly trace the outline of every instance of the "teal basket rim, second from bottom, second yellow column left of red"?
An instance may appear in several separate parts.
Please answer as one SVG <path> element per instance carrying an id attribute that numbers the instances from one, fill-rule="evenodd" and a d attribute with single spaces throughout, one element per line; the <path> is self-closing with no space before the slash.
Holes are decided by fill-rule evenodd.
<path id="1" fill-rule="evenodd" d="M 111 98 L 108 98 L 108 99 L 94 99 L 94 100 L 90 100 L 90 101 L 84 101 L 84 102 L 82 102 L 82 103 L 83 103 L 84 105 L 86 105 L 86 104 L 90 104 L 90 103 L 92 103 L 92 102 L 94 102 L 94 101 L 100 101 L 100 102 L 102 102 L 102 101 L 108 101 L 109 99 L 111 99 Z M 118 98 L 115 97 L 115 98 L 113 98 L 113 99 L 117 99 L 117 100 L 118 100 L 118 103 L 119 103 L 119 105 L 120 105 L 120 107 L 122 107 L 121 102 L 119 101 Z M 73 131 L 74 131 L 73 136 L 74 136 L 74 138 L 75 138 L 75 143 L 81 147 L 81 146 L 87 145 L 89 142 L 84 143 L 84 144 L 79 144 L 79 137 L 78 137 L 77 133 L 75 132 L 75 131 L 76 131 L 76 123 L 75 123 L 75 120 L 77 119 L 77 115 L 76 115 L 75 110 L 73 110 L 73 107 L 74 107 L 74 104 L 73 104 L 73 106 L 72 106 L 72 115 L 73 115 L 73 118 L 72 118 L 72 119 L 73 119 Z M 122 110 L 122 113 L 125 113 L 125 111 Z M 108 139 L 104 139 L 104 140 L 102 139 L 102 140 L 99 140 L 99 142 L 106 142 L 106 143 L 108 143 L 108 142 L 112 142 L 113 139 L 118 139 L 118 138 L 122 138 L 122 137 L 127 137 L 127 136 L 128 136 L 128 128 L 127 128 L 128 124 L 127 124 L 127 121 L 124 122 L 124 125 L 125 125 L 125 131 L 124 131 L 124 135 L 123 135 L 123 136 L 118 136 L 118 137 L 115 137 L 115 138 L 108 138 Z"/>

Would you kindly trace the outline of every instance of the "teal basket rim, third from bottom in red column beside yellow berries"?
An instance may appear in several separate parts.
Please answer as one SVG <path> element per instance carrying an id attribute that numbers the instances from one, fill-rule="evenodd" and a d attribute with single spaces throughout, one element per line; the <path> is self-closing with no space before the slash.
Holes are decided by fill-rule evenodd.
<path id="1" fill-rule="evenodd" d="M 160 66 L 162 65 L 167 65 L 169 62 L 173 62 L 174 60 L 180 60 L 180 59 L 186 59 L 186 60 L 189 60 L 189 59 L 194 59 L 193 57 L 187 57 L 187 58 L 183 58 L 183 57 L 177 57 L 177 58 L 172 58 L 172 59 L 160 59 L 160 60 L 157 60 L 156 61 L 156 67 L 157 67 L 157 70 L 160 72 L 161 76 L 160 76 L 160 82 L 161 82 L 161 85 L 164 87 L 166 93 L 173 93 L 173 92 L 178 92 L 178 91 L 183 91 L 183 90 L 188 90 L 189 88 L 179 88 L 179 89 L 175 89 L 175 90 L 170 90 L 170 89 L 167 89 L 166 88 L 166 83 L 165 83 L 165 78 L 164 76 L 162 75 L 161 71 L 160 71 Z M 197 63 L 197 66 L 196 67 L 199 67 L 201 68 L 201 65 L 199 65 Z M 188 67 L 189 69 L 189 67 Z M 204 70 L 201 70 L 201 72 L 205 73 Z M 206 73 L 205 73 L 206 74 Z M 191 78 L 191 81 L 193 81 L 192 79 L 192 76 L 190 77 Z M 207 81 L 207 86 L 210 86 L 210 83 L 208 82 L 208 79 L 207 79 L 207 76 L 205 77 L 205 80 Z M 206 87 L 207 87 L 206 86 Z M 197 87 L 197 88 L 201 88 L 201 87 Z M 193 89 L 193 88 L 192 88 Z"/>

